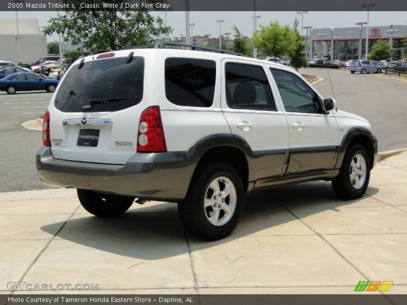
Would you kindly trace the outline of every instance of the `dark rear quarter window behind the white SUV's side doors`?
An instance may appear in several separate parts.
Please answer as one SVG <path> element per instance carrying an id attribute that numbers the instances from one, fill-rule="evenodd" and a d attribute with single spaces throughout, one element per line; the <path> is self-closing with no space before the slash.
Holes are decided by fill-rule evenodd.
<path id="1" fill-rule="evenodd" d="M 172 104 L 211 107 L 215 95 L 216 62 L 207 59 L 165 59 L 165 96 Z"/>

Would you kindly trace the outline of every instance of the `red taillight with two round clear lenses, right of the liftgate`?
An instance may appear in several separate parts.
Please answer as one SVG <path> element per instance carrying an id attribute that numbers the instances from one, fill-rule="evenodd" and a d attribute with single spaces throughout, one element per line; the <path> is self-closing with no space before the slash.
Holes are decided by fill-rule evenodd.
<path id="1" fill-rule="evenodd" d="M 165 153 L 167 151 L 159 106 L 151 106 L 140 115 L 137 151 L 142 153 Z"/>

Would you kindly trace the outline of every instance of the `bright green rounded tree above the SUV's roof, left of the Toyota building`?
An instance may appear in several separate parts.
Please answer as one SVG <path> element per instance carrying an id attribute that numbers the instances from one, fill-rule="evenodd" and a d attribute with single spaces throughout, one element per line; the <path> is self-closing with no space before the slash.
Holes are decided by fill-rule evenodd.
<path id="1" fill-rule="evenodd" d="M 288 25 L 281 26 L 273 21 L 268 26 L 260 25 L 260 31 L 253 33 L 252 41 L 265 55 L 277 58 L 294 51 L 296 38 Z"/>

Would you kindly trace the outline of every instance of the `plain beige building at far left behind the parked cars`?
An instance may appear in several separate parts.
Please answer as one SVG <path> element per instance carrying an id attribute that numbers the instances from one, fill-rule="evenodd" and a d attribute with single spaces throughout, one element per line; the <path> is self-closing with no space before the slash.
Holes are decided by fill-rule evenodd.
<path id="1" fill-rule="evenodd" d="M 47 54 L 47 40 L 41 35 L 38 19 L 0 19 L 0 60 L 18 63 L 18 36 L 20 37 L 21 62 Z M 18 35 L 19 34 L 19 35 Z"/>

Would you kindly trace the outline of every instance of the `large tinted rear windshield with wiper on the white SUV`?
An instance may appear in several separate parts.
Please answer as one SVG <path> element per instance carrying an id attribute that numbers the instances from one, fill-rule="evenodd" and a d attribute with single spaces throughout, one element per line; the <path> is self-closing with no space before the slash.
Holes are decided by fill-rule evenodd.
<path id="1" fill-rule="evenodd" d="M 55 97 L 55 107 L 64 112 L 118 111 L 140 103 L 143 96 L 144 59 L 108 58 L 78 64 L 64 76 Z M 111 101 L 117 98 L 116 101 Z M 120 99 L 120 100 L 119 100 Z M 93 101 L 91 101 L 93 100 Z M 110 101 L 109 101 L 110 100 Z M 98 102 L 96 102 L 98 101 Z"/>

